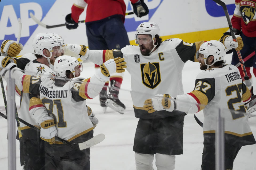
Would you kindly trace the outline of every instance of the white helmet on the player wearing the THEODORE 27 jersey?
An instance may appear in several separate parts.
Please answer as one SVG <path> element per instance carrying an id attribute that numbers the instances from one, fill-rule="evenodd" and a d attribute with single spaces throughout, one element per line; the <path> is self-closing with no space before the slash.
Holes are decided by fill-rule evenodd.
<path id="1" fill-rule="evenodd" d="M 225 46 L 220 41 L 216 40 L 211 40 L 203 43 L 197 51 L 197 59 L 199 57 L 199 53 L 203 54 L 205 65 L 208 66 L 207 68 L 209 68 L 209 66 L 212 66 L 217 61 L 224 60 L 224 57 L 226 55 Z M 214 57 L 214 61 L 211 65 L 206 64 L 206 60 L 209 56 Z"/>

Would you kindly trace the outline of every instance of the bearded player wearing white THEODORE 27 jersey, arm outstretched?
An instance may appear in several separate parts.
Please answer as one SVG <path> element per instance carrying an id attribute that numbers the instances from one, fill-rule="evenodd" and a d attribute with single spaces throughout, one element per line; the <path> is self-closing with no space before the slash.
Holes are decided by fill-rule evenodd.
<path id="1" fill-rule="evenodd" d="M 243 84 L 238 68 L 225 64 L 225 55 L 225 46 L 221 42 L 203 43 L 197 59 L 204 71 L 197 75 L 194 90 L 175 98 L 169 94 L 157 95 L 144 103 L 150 114 L 168 111 L 167 114 L 172 115 L 175 110 L 196 113 L 203 109 L 202 170 L 215 170 L 214 142 L 219 108 L 224 118 L 225 169 L 233 169 L 234 159 L 242 146 L 256 143 L 245 116 L 248 112 L 244 103 L 250 100 L 250 91 Z"/>

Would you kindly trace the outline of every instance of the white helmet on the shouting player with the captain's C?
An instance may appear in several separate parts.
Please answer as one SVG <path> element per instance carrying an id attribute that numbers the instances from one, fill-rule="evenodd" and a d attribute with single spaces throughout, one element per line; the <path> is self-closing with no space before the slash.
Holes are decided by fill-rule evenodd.
<path id="1" fill-rule="evenodd" d="M 152 41 L 154 41 L 155 35 L 159 35 L 159 33 L 160 33 L 160 29 L 156 23 L 143 22 L 139 24 L 139 26 L 136 29 L 135 43 L 138 44 L 138 41 L 137 41 L 138 34 L 149 34 L 151 35 Z"/>

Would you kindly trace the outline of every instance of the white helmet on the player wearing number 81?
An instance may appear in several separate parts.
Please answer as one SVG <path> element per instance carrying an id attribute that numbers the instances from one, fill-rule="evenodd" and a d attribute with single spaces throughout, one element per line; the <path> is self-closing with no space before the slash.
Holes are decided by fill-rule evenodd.
<path id="1" fill-rule="evenodd" d="M 59 56 L 54 62 L 54 71 L 58 77 L 66 77 L 66 71 L 69 70 L 75 77 L 75 67 L 79 66 L 80 72 L 83 70 L 82 63 L 72 56 Z"/>

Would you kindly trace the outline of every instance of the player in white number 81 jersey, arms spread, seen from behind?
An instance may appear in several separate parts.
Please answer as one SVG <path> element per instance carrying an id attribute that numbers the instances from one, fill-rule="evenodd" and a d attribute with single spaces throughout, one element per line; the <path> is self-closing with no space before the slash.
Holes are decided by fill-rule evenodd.
<path id="1" fill-rule="evenodd" d="M 47 109 L 47 113 L 36 111 L 31 115 L 41 127 L 41 139 L 47 141 L 45 169 L 63 169 L 64 166 L 67 169 L 90 169 L 89 148 L 78 151 L 55 141 L 54 137 L 57 135 L 73 143 L 93 137 L 94 125 L 88 117 L 85 100 L 99 94 L 110 74 L 125 71 L 126 62 L 123 61 L 121 58 L 106 61 L 101 70 L 88 79 L 74 78 L 80 75 L 82 67 L 71 56 L 60 56 L 55 60 L 56 74 L 45 73 L 40 77 L 23 74 L 17 68 L 12 70 L 17 87 L 24 93 L 40 95 Z M 15 66 L 15 63 L 9 64 Z M 5 71 L 5 68 L 2 69 L 1 75 Z"/>

